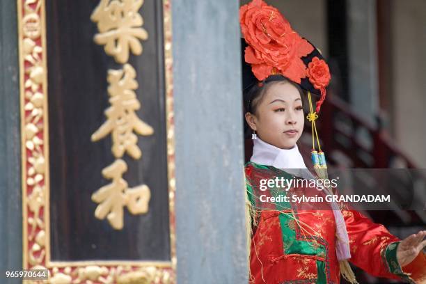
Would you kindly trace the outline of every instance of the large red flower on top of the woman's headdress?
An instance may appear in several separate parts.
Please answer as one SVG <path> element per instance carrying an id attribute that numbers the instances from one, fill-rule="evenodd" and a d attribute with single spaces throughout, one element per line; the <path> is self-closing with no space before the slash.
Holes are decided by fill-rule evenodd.
<path id="1" fill-rule="evenodd" d="M 280 73 L 300 84 L 306 77 L 301 57 L 310 54 L 313 46 L 292 30 L 287 19 L 264 1 L 253 0 L 239 9 L 239 22 L 248 43 L 245 60 L 255 77 L 262 81 Z"/>

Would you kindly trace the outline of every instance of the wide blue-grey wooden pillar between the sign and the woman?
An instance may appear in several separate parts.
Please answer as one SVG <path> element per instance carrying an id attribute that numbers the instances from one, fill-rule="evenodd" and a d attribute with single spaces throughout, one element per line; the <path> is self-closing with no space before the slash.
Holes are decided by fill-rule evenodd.
<path id="1" fill-rule="evenodd" d="M 247 283 L 239 3 L 172 6 L 178 283 Z"/>

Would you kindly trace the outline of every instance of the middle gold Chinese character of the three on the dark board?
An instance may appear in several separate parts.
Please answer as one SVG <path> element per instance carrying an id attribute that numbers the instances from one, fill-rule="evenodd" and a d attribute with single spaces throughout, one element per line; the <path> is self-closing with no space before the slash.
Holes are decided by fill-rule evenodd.
<path id="1" fill-rule="evenodd" d="M 138 83 L 134 80 L 136 72 L 131 65 L 125 64 L 123 70 L 109 70 L 108 79 L 109 102 L 111 107 L 105 111 L 108 120 L 92 134 L 92 141 L 98 141 L 107 134 L 112 134 L 112 152 L 116 158 L 127 153 L 134 159 L 140 159 L 142 152 L 136 143 L 135 131 L 143 136 L 152 135 L 154 129 L 136 116 L 135 111 L 141 104 L 136 99 L 134 90 Z"/>

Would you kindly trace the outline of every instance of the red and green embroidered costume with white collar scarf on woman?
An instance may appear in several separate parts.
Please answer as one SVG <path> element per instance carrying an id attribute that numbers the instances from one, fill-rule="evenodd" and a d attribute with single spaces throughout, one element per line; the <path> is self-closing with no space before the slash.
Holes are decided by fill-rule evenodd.
<path id="1" fill-rule="evenodd" d="M 294 169 L 298 169 L 297 173 Z M 265 196 L 297 194 L 300 188 L 260 189 L 260 180 L 281 177 L 290 180 L 295 175 L 313 178 L 297 146 L 283 150 L 256 139 L 245 173 L 248 199 L 253 208 L 250 283 L 340 283 L 336 218 L 332 208 L 305 209 L 291 202 L 265 201 Z M 348 208 L 341 212 L 349 236 L 349 262 L 377 277 L 402 278 L 409 283 L 426 281 L 424 253 L 402 268 L 396 258 L 400 239 L 359 212 Z"/>

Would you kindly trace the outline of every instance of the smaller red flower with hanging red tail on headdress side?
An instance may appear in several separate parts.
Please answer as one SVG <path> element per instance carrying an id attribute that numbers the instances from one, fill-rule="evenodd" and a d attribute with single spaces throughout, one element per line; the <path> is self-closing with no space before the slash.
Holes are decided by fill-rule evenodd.
<path id="1" fill-rule="evenodd" d="M 329 85 L 331 79 L 329 65 L 327 65 L 324 60 L 315 56 L 308 64 L 308 68 L 306 68 L 306 76 L 309 78 L 309 81 L 313 84 L 314 88 L 321 91 L 321 97 L 317 102 L 317 108 L 315 110 L 318 113 L 325 100 L 325 88 Z"/>

